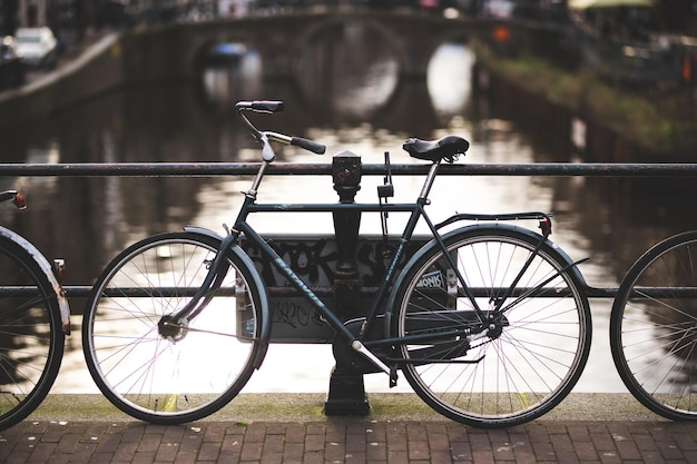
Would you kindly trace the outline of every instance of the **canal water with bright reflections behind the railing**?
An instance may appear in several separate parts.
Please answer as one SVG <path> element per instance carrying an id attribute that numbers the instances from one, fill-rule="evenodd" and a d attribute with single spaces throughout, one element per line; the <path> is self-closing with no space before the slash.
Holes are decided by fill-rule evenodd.
<path id="1" fill-rule="evenodd" d="M 348 38 L 357 40 L 351 31 Z M 361 38 L 361 34 L 355 33 Z M 568 144 L 551 144 L 520 129 L 524 108 L 492 103 L 472 86 L 474 59 L 461 43 L 444 45 L 433 57 L 426 81 L 401 81 L 389 52 L 370 47 L 347 55 L 344 42 L 308 49 L 300 59 L 298 79 L 264 81 L 263 63 L 249 50 L 239 61 L 209 68 L 199 85 L 157 85 L 124 89 L 85 101 L 32 127 L 2 135 L 3 162 L 189 162 L 257 161 L 259 152 L 235 119 L 240 99 L 284 100 L 286 110 L 255 120 L 262 128 L 306 137 L 328 147 L 320 157 L 277 147 L 279 161 L 331 162 L 351 150 L 363 162 L 411 162 L 401 150 L 408 137 L 457 134 L 471 141 L 459 162 L 547 162 L 582 160 Z M 344 37 L 345 39 L 345 37 Z M 356 43 L 351 45 L 355 50 Z M 327 50 L 331 50 L 328 52 Z M 351 59 L 347 59 L 350 57 Z M 522 118 L 522 119 L 518 119 Z M 357 201 L 376 200 L 381 179 L 364 176 Z M 100 269 L 130 243 L 148 235 L 195 224 L 223 231 L 230 223 L 247 178 L 234 177 L 20 177 L 0 179 L 2 188 L 24 194 L 29 209 L 3 208 L 0 220 L 33 241 L 47 256 L 67 260 L 67 285 L 91 284 Z M 412 200 L 421 179 L 396 177 L 395 201 Z M 441 177 L 430 207 L 435 219 L 455 211 L 554 213 L 553 241 L 581 265 L 587 282 L 616 287 L 630 263 L 652 243 L 690 227 L 679 214 L 680 195 L 658 184 L 627 179 L 552 177 Z M 261 199 L 332 201 L 328 177 L 266 179 Z M 328 233 L 330 217 L 274 216 L 255 223 L 268 233 Z M 397 215 L 390 230 L 401 230 Z M 379 234 L 377 217 L 366 216 L 361 233 Z M 96 393 L 85 367 L 80 342 L 82 304 L 71 299 L 73 335 L 56 393 Z M 593 346 L 578 392 L 624 392 L 608 344 L 611 302 L 591 300 Z M 225 362 L 225 354 L 212 353 Z M 326 392 L 334 359 L 330 345 L 272 345 L 261 371 L 244 392 Z M 366 391 L 389 391 L 381 374 L 365 377 Z M 405 382 L 397 387 L 408 391 Z"/>

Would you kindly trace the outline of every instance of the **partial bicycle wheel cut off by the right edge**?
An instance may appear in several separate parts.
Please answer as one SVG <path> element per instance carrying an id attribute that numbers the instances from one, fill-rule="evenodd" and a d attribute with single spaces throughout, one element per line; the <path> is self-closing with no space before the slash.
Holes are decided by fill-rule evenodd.
<path id="1" fill-rule="evenodd" d="M 649 409 L 697 418 L 697 231 L 667 238 L 630 268 L 610 315 L 612 358 Z"/>

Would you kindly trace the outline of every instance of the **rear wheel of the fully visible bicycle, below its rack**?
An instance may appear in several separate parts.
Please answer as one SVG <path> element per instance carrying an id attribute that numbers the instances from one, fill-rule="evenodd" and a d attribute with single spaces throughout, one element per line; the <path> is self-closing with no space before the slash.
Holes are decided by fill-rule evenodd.
<path id="1" fill-rule="evenodd" d="M 487 315 L 483 326 L 440 247 L 397 289 L 393 335 L 429 337 L 397 347 L 402 372 L 426 404 L 464 424 L 541 416 L 569 394 L 588 359 L 592 325 L 580 274 L 549 241 L 539 247 L 538 236 L 521 230 L 493 225 L 444 236 Z"/>

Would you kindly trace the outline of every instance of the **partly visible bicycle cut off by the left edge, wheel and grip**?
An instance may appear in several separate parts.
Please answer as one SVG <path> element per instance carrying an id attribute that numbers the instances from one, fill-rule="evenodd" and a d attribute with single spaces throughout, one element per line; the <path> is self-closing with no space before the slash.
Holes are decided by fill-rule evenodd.
<path id="1" fill-rule="evenodd" d="M 26 208 L 17 190 L 0 192 L 0 201 L 9 200 Z M 70 334 L 63 265 L 49 264 L 27 239 L 0 226 L 0 430 L 31 414 L 58 376 Z"/>

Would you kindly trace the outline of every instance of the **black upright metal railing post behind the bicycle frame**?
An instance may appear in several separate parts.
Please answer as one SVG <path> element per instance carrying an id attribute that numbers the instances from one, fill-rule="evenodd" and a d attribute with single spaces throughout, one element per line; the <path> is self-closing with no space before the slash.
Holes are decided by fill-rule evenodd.
<path id="1" fill-rule="evenodd" d="M 361 157 L 342 151 L 332 160 L 332 177 L 338 201 L 355 203 L 355 195 L 361 189 Z M 336 237 L 336 269 L 334 270 L 334 308 L 343 320 L 360 316 L 357 314 L 361 295 L 361 280 L 356 269 L 355 255 L 359 244 L 361 211 L 334 213 Z M 330 379 L 330 393 L 324 403 L 326 415 L 367 415 L 370 405 L 365 396 L 363 374 L 356 373 L 336 358 Z"/>

